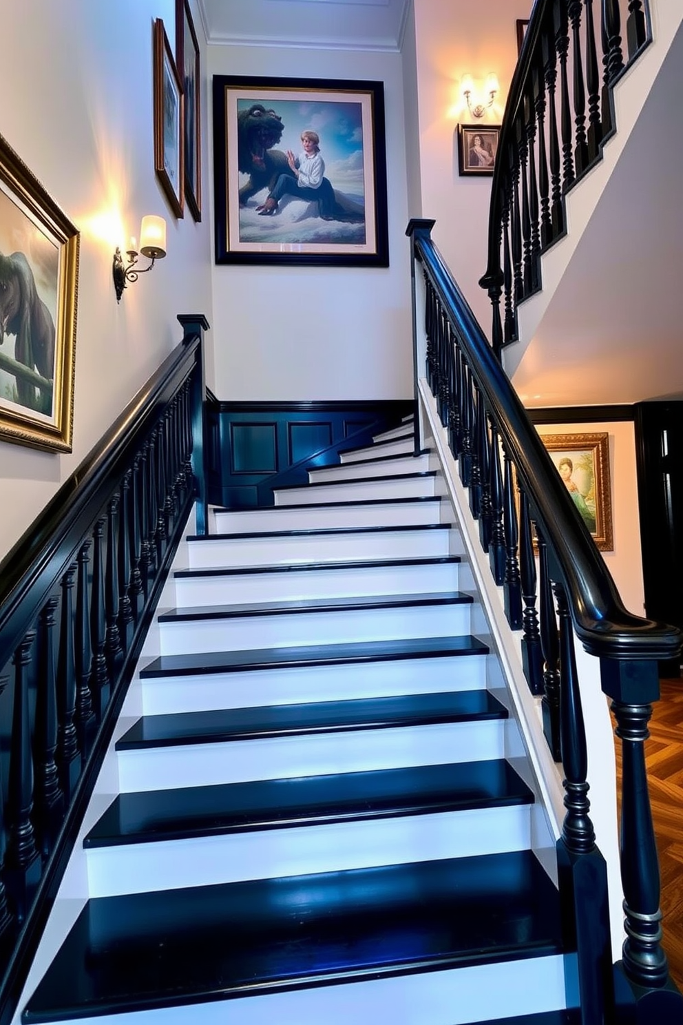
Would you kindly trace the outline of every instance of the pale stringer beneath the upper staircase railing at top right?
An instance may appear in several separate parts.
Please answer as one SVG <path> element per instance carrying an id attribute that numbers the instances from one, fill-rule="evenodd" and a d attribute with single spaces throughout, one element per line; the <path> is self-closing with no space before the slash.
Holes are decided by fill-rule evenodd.
<path id="1" fill-rule="evenodd" d="M 651 42 L 626 69 L 612 90 L 615 131 L 602 147 L 601 158 L 564 196 L 566 234 L 542 254 L 542 287 L 519 304 L 517 309 L 519 340 L 506 345 L 503 350 L 506 373 L 515 381 L 520 392 L 527 386 L 525 378 L 538 372 L 541 353 L 550 337 L 548 331 L 544 329 L 544 318 L 550 312 L 549 308 L 555 293 L 562 285 L 565 273 L 572 265 L 582 237 L 629 145 L 630 136 L 638 124 L 643 107 L 656 83 L 683 20 L 679 5 L 670 0 L 650 0 L 649 17 L 652 30 Z M 625 216 L 627 216 L 626 211 Z M 545 343 L 540 336 L 537 338 L 537 333 L 544 335 Z M 522 368 L 522 364 L 526 364 L 527 361 L 528 374 L 524 373 Z M 519 382 L 516 378 L 518 371 L 520 371 Z M 566 403 L 553 401 L 546 404 Z"/>

